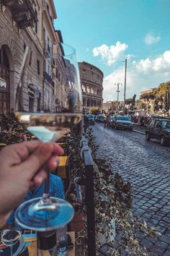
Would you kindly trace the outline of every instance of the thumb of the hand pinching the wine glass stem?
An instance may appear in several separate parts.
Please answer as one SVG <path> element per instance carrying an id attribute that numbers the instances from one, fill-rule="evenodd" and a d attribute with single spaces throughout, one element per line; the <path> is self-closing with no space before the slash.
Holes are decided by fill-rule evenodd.
<path id="1" fill-rule="evenodd" d="M 30 156 L 21 163 L 20 168 L 24 170 L 26 179 L 33 179 L 37 171 L 44 165 L 53 153 L 53 143 L 42 143 Z"/>

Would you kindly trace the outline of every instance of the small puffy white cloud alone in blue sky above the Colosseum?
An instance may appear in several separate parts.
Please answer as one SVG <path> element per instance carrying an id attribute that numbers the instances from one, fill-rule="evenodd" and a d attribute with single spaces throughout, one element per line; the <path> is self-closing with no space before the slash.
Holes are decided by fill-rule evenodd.
<path id="1" fill-rule="evenodd" d="M 127 44 L 120 43 L 119 41 L 117 41 L 115 46 L 107 46 L 106 44 L 103 44 L 102 46 L 93 49 L 93 56 L 101 56 L 102 60 L 105 61 L 107 65 L 111 66 L 118 59 L 122 59 L 123 53 L 127 48 Z"/>

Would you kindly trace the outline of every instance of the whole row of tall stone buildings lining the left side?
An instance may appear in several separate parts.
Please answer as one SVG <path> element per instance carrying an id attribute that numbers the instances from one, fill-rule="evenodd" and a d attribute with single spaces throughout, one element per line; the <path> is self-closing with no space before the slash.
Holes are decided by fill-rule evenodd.
<path id="1" fill-rule="evenodd" d="M 66 104 L 68 80 L 64 61 L 56 58 L 63 54 L 61 32 L 53 26 L 56 18 L 53 0 L 1 0 L 0 114 L 14 110 L 26 52 L 24 110 L 59 111 Z"/>

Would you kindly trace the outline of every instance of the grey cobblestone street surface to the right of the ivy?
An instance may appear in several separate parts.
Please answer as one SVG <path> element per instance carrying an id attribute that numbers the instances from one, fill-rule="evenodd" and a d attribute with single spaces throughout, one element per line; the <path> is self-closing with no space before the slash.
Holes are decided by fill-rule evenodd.
<path id="1" fill-rule="evenodd" d="M 133 215 L 161 232 L 158 238 L 138 232 L 149 255 L 170 256 L 170 147 L 158 141 L 146 142 L 137 132 L 104 128 L 96 123 L 94 135 L 99 155 L 107 157 L 112 171 L 122 174 L 133 188 Z"/>

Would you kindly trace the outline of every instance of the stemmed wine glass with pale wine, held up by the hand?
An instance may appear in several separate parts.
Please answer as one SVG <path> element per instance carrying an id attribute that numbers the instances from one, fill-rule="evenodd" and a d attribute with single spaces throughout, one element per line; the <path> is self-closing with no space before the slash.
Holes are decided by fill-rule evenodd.
<path id="1" fill-rule="evenodd" d="M 26 48 L 24 54 L 22 72 L 17 87 L 15 116 L 22 126 L 26 127 L 42 142 L 60 139 L 81 120 L 82 94 L 76 53 L 74 48 L 63 43 L 60 43 L 59 48 L 59 54 L 53 54 L 50 58 L 64 70 L 65 99 L 63 106 L 55 108 L 55 111 L 49 110 L 49 106 L 37 111 L 37 101 L 35 101 L 33 111 L 29 108 L 30 104 L 27 102 L 28 97 L 23 82 L 24 70 L 27 68 L 27 59 L 29 59 L 29 48 Z M 42 94 L 44 95 L 43 91 Z M 25 98 L 26 100 L 24 100 Z M 47 167 L 46 170 L 48 178 L 45 180 L 42 198 L 24 202 L 19 205 L 15 213 L 17 223 L 24 229 L 50 231 L 66 225 L 73 218 L 74 210 L 70 203 L 66 200 L 50 197 L 50 174 Z"/>

